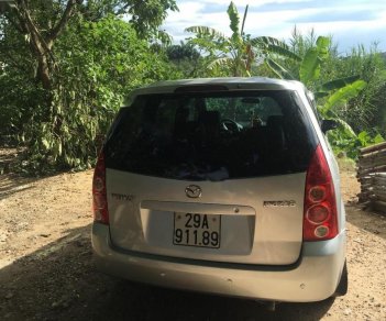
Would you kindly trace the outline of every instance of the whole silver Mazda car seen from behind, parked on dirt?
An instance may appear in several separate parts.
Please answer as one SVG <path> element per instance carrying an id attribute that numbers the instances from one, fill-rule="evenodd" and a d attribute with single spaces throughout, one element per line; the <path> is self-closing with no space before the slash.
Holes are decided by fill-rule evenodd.
<path id="1" fill-rule="evenodd" d="M 269 301 L 345 295 L 339 170 L 298 81 L 217 78 L 134 90 L 93 177 L 100 270 Z"/>

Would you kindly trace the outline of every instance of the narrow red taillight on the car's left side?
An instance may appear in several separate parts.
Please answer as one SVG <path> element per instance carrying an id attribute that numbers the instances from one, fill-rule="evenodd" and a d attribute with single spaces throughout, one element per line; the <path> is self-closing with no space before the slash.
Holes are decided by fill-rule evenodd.
<path id="1" fill-rule="evenodd" d="M 109 211 L 106 192 L 106 165 L 104 155 L 100 153 L 92 179 L 92 203 L 93 220 L 99 223 L 109 224 Z"/>

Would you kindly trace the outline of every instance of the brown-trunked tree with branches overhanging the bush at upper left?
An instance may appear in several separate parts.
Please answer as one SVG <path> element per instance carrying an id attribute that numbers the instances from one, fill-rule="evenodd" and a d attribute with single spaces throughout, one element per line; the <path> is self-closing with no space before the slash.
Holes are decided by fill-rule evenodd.
<path id="1" fill-rule="evenodd" d="M 53 87 L 53 74 L 57 68 L 54 43 L 76 14 L 95 21 L 110 13 L 129 13 L 135 29 L 146 34 L 162 23 L 168 9 L 177 10 L 174 0 L 15 0 L 14 3 L 5 13 L 7 21 L 25 36 L 37 62 L 36 79 L 47 90 Z"/>

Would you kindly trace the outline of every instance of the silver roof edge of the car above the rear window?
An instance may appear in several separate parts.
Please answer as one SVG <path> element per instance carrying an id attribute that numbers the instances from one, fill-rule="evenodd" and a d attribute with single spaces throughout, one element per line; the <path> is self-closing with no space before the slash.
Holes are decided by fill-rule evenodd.
<path id="1" fill-rule="evenodd" d="M 134 89 L 133 96 L 137 95 L 151 95 L 151 93 L 170 93 L 175 92 L 178 88 L 196 88 L 197 91 L 201 91 L 199 88 L 207 86 L 213 86 L 213 90 L 217 88 L 225 87 L 228 90 L 301 90 L 306 91 L 306 87 L 296 80 L 283 80 L 264 77 L 229 77 L 229 78 L 195 78 L 195 79 L 180 79 L 180 80 L 166 80 L 158 81 L 152 85 Z M 190 90 L 190 91 L 196 91 Z"/>

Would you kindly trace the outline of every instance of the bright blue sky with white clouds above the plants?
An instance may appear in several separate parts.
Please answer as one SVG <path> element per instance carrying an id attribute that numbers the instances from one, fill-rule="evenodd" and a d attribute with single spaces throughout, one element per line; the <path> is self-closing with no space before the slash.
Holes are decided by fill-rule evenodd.
<path id="1" fill-rule="evenodd" d="M 179 12 L 169 12 L 163 29 L 174 42 L 190 33 L 188 26 L 206 25 L 230 35 L 227 9 L 230 0 L 177 0 Z M 252 36 L 290 38 L 294 26 L 302 34 L 312 29 L 317 35 L 332 35 L 341 54 L 376 42 L 386 52 L 386 0 L 234 0 L 242 20 L 249 13 L 244 31 Z"/>

